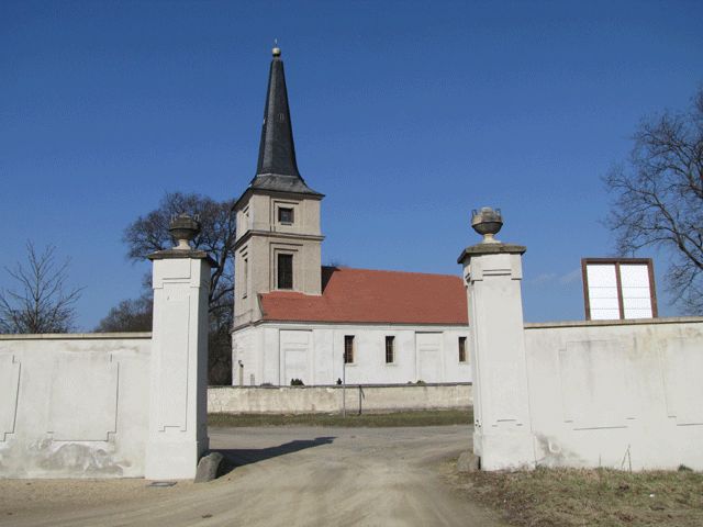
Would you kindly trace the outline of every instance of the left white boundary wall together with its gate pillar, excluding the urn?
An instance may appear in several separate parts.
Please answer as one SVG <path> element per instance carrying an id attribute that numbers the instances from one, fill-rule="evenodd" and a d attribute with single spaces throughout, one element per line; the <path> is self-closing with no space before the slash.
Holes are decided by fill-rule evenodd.
<path id="1" fill-rule="evenodd" d="M 154 260 L 154 332 L 0 335 L 0 478 L 191 479 L 209 448 L 202 251 Z"/>

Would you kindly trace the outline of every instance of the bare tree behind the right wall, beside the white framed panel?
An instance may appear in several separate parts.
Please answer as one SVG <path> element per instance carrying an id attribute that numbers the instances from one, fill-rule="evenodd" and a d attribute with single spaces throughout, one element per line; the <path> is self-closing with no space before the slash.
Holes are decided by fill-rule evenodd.
<path id="1" fill-rule="evenodd" d="M 703 313 L 703 87 L 685 112 L 644 120 L 634 142 L 629 164 L 605 177 L 617 249 L 665 249 L 673 302 Z"/>

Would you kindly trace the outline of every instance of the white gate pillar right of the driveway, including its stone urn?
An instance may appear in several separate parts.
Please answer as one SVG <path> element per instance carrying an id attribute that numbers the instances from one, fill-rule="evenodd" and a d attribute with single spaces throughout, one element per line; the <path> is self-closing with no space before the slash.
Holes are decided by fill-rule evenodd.
<path id="1" fill-rule="evenodd" d="M 484 235 L 459 256 L 467 284 L 473 373 L 473 452 L 482 470 L 533 468 L 521 293 L 526 248 L 493 238 L 500 211 L 473 214 Z"/>

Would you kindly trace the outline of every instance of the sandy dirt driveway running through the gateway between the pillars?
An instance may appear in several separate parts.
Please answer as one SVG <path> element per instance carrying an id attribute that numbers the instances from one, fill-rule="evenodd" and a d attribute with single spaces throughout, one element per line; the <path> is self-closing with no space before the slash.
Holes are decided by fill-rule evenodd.
<path id="1" fill-rule="evenodd" d="M 0 525 L 503 525 L 440 475 L 469 448 L 468 426 L 214 428 L 210 438 L 236 464 L 216 481 L 0 480 Z"/>

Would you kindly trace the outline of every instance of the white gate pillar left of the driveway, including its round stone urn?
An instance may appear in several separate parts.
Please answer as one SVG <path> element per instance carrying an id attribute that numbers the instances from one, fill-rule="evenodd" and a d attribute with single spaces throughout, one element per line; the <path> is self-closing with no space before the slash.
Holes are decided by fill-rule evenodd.
<path id="1" fill-rule="evenodd" d="M 148 256 L 154 262 L 149 430 L 145 478 L 192 479 L 208 439 L 208 293 L 215 262 L 188 242 L 199 225 L 178 216 L 179 246 Z"/>

